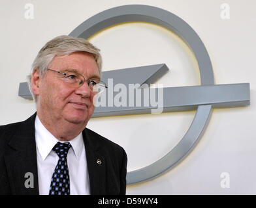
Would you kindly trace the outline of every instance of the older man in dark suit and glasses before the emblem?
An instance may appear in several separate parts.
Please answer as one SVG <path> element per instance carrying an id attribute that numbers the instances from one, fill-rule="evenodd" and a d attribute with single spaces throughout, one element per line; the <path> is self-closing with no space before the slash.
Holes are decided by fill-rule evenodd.
<path id="1" fill-rule="evenodd" d="M 86 128 L 106 88 L 99 49 L 58 36 L 33 62 L 37 112 L 0 126 L 0 194 L 125 194 L 123 148 Z"/>

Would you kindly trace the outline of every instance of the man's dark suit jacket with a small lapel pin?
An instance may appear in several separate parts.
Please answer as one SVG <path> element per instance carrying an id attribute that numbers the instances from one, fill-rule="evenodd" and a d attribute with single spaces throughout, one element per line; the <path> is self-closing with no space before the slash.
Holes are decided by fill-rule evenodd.
<path id="1" fill-rule="evenodd" d="M 0 126 L 0 194 L 39 194 L 36 115 L 24 122 Z M 82 135 L 91 194 L 125 194 L 127 155 L 124 149 L 87 128 Z M 25 181 L 31 179 L 25 177 L 27 172 L 33 174 L 34 188 L 25 187 Z"/>

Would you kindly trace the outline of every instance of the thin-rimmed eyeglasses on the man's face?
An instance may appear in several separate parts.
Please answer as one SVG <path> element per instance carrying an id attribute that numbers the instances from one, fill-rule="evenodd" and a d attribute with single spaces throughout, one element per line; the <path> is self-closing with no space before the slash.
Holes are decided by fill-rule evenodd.
<path id="1" fill-rule="evenodd" d="M 100 93 L 105 90 L 105 88 L 108 88 L 106 84 L 99 80 L 99 79 L 85 79 L 83 75 L 76 72 L 59 72 L 56 70 L 48 69 L 52 72 L 59 73 L 61 75 L 61 78 L 64 78 L 63 81 L 65 83 L 68 83 L 73 88 L 78 88 L 84 84 L 85 81 L 87 81 L 89 89 L 94 93 Z"/>

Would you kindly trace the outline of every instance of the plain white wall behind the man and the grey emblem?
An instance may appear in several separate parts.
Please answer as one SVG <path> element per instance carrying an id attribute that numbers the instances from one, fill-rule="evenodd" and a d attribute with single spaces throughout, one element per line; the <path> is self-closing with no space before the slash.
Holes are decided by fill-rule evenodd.
<path id="1" fill-rule="evenodd" d="M 246 2 L 246 3 L 244 3 Z M 199 34 L 212 60 L 216 84 L 250 83 L 251 105 L 214 109 L 199 144 L 178 166 L 151 181 L 127 186 L 127 194 L 256 194 L 255 6 L 253 0 L 1 0 L 0 125 L 35 112 L 33 101 L 18 97 L 40 47 L 108 8 L 152 5 L 184 19 Z M 25 19 L 25 4 L 34 19 Z M 221 19 L 221 4 L 230 19 Z M 170 72 L 157 81 L 165 86 L 200 85 L 193 54 L 175 34 L 146 23 L 112 27 L 91 38 L 101 48 L 103 71 L 165 62 Z M 175 98 L 174 98 L 175 99 Z M 189 128 L 195 110 L 92 118 L 88 127 L 127 151 L 128 171 L 147 166 L 172 149 Z M 221 173 L 230 188 L 221 188 Z"/>

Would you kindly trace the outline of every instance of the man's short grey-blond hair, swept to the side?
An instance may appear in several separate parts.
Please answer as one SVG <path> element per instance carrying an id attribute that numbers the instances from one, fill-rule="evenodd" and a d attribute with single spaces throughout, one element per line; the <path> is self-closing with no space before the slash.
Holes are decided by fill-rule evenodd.
<path id="1" fill-rule="evenodd" d="M 37 57 L 32 64 L 31 74 L 27 76 L 29 88 L 31 94 L 35 101 L 37 101 L 37 96 L 35 96 L 31 89 L 31 77 L 35 70 L 39 70 L 39 74 L 44 76 L 47 72 L 48 66 L 56 56 L 69 55 L 77 51 L 84 51 L 91 53 L 101 74 L 102 57 L 99 53 L 99 49 L 91 44 L 88 40 L 84 38 L 74 38 L 67 35 L 57 36 L 56 38 L 47 42 L 39 51 Z"/>

